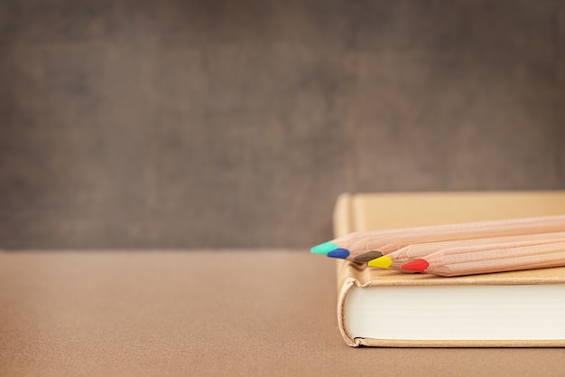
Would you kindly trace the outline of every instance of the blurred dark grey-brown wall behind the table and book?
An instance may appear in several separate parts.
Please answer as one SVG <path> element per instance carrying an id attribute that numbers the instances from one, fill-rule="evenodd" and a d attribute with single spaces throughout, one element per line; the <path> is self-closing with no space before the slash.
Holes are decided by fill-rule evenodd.
<path id="1" fill-rule="evenodd" d="M 565 188 L 564 1 L 0 0 L 0 247 L 309 247 Z"/>

